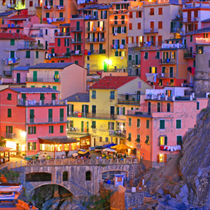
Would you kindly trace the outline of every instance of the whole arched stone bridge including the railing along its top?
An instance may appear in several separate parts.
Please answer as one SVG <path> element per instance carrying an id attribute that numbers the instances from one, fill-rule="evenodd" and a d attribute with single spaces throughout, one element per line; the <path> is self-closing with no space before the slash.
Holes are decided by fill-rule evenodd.
<path id="1" fill-rule="evenodd" d="M 42 185 L 55 184 L 69 190 L 74 196 L 94 195 L 99 192 L 102 174 L 108 171 L 120 171 L 127 179 L 139 175 L 141 166 L 136 159 L 117 160 L 72 160 L 53 159 L 27 162 L 25 164 L 24 186 L 30 194 Z M 34 176 L 44 180 L 33 179 Z"/>

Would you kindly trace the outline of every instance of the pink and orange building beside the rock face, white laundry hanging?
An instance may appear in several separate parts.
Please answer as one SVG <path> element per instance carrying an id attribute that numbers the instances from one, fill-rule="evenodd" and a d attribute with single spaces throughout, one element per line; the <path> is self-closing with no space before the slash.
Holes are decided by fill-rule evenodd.
<path id="1" fill-rule="evenodd" d="M 196 125 L 207 98 L 183 96 L 187 88 L 148 90 L 145 103 L 126 116 L 126 144 L 147 167 L 163 165 L 181 150 L 184 135 Z M 176 94 L 182 95 L 177 96 Z M 181 94 L 180 94 L 181 93 Z"/>

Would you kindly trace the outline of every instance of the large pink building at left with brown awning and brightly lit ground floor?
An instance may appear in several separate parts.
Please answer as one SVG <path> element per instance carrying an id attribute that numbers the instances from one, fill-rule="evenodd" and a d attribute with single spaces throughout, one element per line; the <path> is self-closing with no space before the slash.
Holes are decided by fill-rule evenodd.
<path id="1" fill-rule="evenodd" d="M 0 92 L 0 136 L 15 154 L 71 150 L 66 136 L 67 104 L 51 88 L 7 88 Z"/>

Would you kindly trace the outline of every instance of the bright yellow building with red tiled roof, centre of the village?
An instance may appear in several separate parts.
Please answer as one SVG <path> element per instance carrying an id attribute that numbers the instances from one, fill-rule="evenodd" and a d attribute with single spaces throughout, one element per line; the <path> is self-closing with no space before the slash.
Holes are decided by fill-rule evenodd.
<path id="1" fill-rule="evenodd" d="M 127 111 L 139 108 L 141 94 L 149 88 L 138 77 L 106 76 L 90 87 L 89 94 L 65 98 L 69 135 L 83 138 L 85 146 L 119 144 L 125 140 Z"/>

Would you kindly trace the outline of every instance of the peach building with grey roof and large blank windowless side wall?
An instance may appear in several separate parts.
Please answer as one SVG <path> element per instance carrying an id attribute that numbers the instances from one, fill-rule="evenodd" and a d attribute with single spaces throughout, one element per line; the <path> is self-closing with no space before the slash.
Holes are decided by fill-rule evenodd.
<path id="1" fill-rule="evenodd" d="M 29 68 L 27 87 L 48 87 L 60 91 L 60 99 L 86 92 L 87 70 L 74 63 L 39 63 Z"/>

